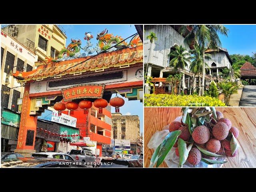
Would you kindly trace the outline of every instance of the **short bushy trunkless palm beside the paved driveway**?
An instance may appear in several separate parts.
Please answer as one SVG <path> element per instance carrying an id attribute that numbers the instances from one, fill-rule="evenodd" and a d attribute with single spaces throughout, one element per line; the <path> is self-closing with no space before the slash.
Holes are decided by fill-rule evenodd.
<path id="1" fill-rule="evenodd" d="M 222 89 L 222 93 L 224 94 L 224 102 L 226 106 L 229 106 L 230 96 L 234 93 L 237 93 L 239 86 L 235 85 L 231 82 L 221 82 L 218 83 L 220 89 Z"/>

